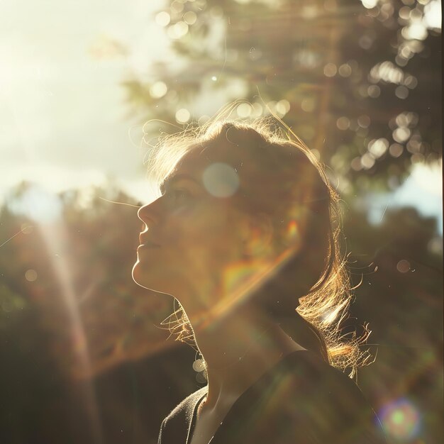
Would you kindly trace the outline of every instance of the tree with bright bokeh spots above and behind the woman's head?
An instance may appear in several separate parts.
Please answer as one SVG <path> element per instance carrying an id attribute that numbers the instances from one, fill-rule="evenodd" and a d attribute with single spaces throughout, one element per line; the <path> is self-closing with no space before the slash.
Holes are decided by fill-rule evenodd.
<path id="1" fill-rule="evenodd" d="M 176 59 L 126 79 L 128 102 L 184 124 L 216 111 L 213 97 L 244 97 L 238 117 L 284 118 L 343 194 L 394 189 L 442 155 L 436 2 L 362 3 L 170 1 L 155 20 Z"/>

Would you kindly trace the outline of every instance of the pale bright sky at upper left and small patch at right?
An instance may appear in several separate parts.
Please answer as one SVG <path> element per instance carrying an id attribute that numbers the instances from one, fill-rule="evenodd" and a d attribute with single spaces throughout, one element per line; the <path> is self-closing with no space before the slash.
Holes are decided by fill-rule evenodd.
<path id="1" fill-rule="evenodd" d="M 142 128 L 120 83 L 172 60 L 154 20 L 163 3 L 0 2 L 0 203 L 23 179 L 58 192 L 107 177 L 147 200 Z M 414 205 L 438 217 L 442 233 L 441 168 L 418 165 L 396 192 L 373 196 L 371 220 L 381 221 L 387 206 Z"/>

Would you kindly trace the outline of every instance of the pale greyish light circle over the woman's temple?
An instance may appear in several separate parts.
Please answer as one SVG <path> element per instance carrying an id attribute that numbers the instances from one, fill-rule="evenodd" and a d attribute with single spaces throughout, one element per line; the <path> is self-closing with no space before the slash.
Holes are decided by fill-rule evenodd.
<path id="1" fill-rule="evenodd" d="M 226 163 L 215 162 L 206 167 L 203 174 L 204 187 L 215 197 L 233 196 L 239 187 L 239 176 Z"/>

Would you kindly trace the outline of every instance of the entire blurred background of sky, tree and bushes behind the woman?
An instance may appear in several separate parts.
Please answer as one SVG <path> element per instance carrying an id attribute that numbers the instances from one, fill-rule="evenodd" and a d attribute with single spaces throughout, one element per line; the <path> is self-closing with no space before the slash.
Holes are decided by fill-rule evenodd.
<path id="1" fill-rule="evenodd" d="M 281 117 L 343 199 L 391 443 L 443 442 L 438 0 L 2 2 L 0 442 L 155 443 L 199 387 L 131 279 L 160 131 Z M 23 13 L 26 11 L 26 14 Z M 117 203 L 116 203 L 117 202 Z"/>

